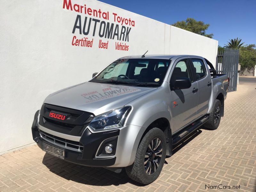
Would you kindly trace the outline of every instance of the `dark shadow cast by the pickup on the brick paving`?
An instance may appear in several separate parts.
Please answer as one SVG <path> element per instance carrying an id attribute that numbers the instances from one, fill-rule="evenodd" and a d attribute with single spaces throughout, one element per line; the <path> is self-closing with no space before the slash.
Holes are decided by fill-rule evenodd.
<path id="1" fill-rule="evenodd" d="M 197 130 L 192 135 L 182 140 L 173 149 L 173 154 L 178 152 L 182 147 L 187 145 L 191 140 L 198 136 L 202 131 Z M 172 158 L 166 156 L 166 158 Z M 166 159 L 167 160 L 167 159 Z M 171 161 L 171 159 L 169 159 Z M 109 186 L 109 185 L 122 185 L 125 183 L 131 183 L 136 186 L 144 186 L 131 180 L 123 170 L 121 173 L 115 173 L 101 167 L 87 167 L 83 165 L 69 163 L 48 153 L 45 153 L 43 158 L 43 164 L 56 175 L 72 180 L 77 183 L 93 186 Z M 165 161 L 165 164 L 168 164 Z M 164 169 L 164 168 L 163 168 Z"/>

